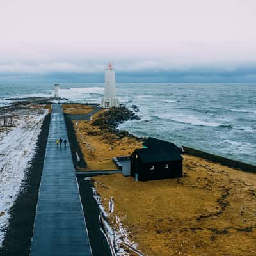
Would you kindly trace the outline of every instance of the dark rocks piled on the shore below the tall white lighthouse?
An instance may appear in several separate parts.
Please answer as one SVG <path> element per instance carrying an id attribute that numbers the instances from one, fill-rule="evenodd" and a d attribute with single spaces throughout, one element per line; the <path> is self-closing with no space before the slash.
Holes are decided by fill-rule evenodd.
<path id="1" fill-rule="evenodd" d="M 92 125 L 96 125 L 102 130 L 115 133 L 120 138 L 124 138 L 124 136 L 134 137 L 127 131 L 119 131 L 116 129 L 118 124 L 127 120 L 140 120 L 140 117 L 128 108 L 122 106 L 120 108 L 111 108 L 109 111 L 100 114 L 99 118 L 95 120 Z"/>

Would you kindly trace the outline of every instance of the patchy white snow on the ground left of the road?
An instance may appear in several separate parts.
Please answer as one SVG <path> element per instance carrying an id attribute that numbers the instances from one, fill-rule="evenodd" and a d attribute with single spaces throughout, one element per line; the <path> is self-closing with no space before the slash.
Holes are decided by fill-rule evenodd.
<path id="1" fill-rule="evenodd" d="M 0 137 L 0 247 L 9 224 L 10 209 L 24 189 L 26 170 L 31 163 L 48 111 L 31 109 L 19 115 L 19 124 Z"/>

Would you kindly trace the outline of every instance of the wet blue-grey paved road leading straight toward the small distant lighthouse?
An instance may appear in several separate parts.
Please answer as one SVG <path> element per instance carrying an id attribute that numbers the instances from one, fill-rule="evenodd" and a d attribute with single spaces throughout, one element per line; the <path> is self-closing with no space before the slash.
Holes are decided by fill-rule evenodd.
<path id="1" fill-rule="evenodd" d="M 51 124 L 31 242 L 31 256 L 92 255 L 61 104 L 52 104 Z"/>

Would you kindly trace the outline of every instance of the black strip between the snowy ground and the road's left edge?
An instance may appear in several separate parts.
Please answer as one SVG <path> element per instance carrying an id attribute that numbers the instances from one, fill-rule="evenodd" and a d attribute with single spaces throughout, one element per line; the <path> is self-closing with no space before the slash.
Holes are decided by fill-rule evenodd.
<path id="1" fill-rule="evenodd" d="M 1 255 L 29 255 L 50 120 L 51 113 L 48 113 L 40 126 L 35 152 L 24 171 L 22 189 L 10 209 Z"/>

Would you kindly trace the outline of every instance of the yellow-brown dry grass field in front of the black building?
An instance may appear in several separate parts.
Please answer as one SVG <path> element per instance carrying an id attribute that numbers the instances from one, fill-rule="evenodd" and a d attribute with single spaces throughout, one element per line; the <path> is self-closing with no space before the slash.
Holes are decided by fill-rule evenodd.
<path id="1" fill-rule="evenodd" d="M 122 174 L 94 177 L 108 209 L 146 255 L 256 255 L 256 174 L 184 156 L 184 178 L 134 182 Z"/>

